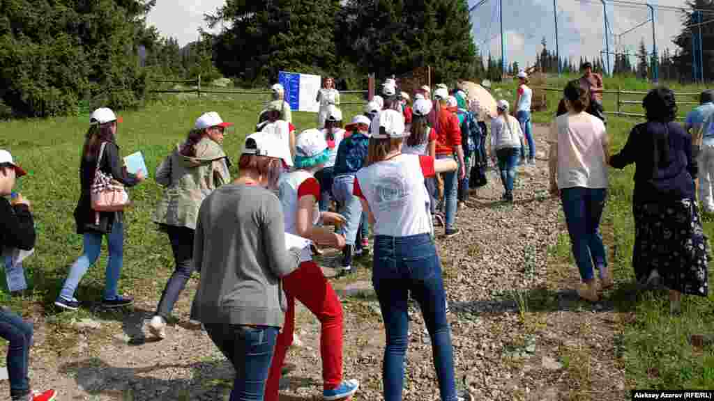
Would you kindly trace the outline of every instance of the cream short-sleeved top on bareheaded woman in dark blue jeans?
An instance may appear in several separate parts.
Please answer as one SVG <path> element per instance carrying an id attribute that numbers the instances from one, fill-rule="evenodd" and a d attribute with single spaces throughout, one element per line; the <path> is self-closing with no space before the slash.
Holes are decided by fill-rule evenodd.
<path id="1" fill-rule="evenodd" d="M 558 143 L 558 188 L 608 188 L 605 124 L 588 113 L 558 116 L 548 142 Z"/>

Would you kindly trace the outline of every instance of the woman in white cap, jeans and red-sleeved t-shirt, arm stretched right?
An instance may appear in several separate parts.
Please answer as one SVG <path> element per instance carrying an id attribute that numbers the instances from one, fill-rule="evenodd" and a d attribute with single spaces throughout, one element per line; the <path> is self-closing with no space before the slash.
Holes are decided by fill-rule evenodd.
<path id="1" fill-rule="evenodd" d="M 425 177 L 456 170 L 456 161 L 403 154 L 402 140 L 408 132 L 398 111 L 382 111 L 371 132 L 368 166 L 357 172 L 353 192 L 368 211 L 375 234 L 372 283 L 386 330 L 384 399 L 402 399 L 411 293 L 431 336 L 441 400 L 458 400 L 441 262 L 424 186 Z"/>

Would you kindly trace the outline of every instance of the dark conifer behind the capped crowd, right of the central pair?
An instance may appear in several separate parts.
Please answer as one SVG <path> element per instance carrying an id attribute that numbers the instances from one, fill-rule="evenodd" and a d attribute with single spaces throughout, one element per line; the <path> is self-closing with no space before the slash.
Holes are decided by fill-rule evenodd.
<path id="1" fill-rule="evenodd" d="M 433 81 L 453 82 L 481 62 L 466 0 L 348 0 L 335 26 L 341 58 L 379 78 L 429 65 Z"/>

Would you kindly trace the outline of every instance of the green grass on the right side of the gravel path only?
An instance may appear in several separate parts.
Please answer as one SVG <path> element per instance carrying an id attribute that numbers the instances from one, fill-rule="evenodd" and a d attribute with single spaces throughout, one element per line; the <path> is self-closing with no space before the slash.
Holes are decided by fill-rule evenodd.
<path id="1" fill-rule="evenodd" d="M 563 77 L 548 82 L 550 87 L 562 88 L 568 79 Z M 680 92 L 698 92 L 701 86 L 681 86 L 669 84 L 670 88 Z M 634 79 L 605 78 L 605 88 L 620 88 L 630 91 L 647 91 L 652 86 Z M 506 93 L 515 93 L 516 83 L 508 83 L 503 88 Z M 639 98 L 638 98 L 639 97 Z M 631 100 L 641 100 L 642 96 L 630 96 Z M 548 110 L 535 113 L 534 121 L 550 123 L 555 115 L 555 108 L 560 96 L 548 93 Z M 678 96 L 678 100 L 694 101 L 694 96 Z M 514 99 L 515 100 L 515 99 Z M 615 96 L 605 95 L 605 110 L 613 110 Z M 629 105 L 628 105 L 629 106 Z M 642 113 L 638 105 L 629 106 L 630 112 Z M 685 115 L 694 106 L 681 105 L 679 114 Z M 608 133 L 612 141 L 613 152 L 619 151 L 627 141 L 630 129 L 642 120 L 608 116 Z M 669 313 L 669 301 L 666 292 L 640 293 L 633 296 L 631 283 L 634 273 L 631 267 L 632 247 L 634 242 L 634 220 L 632 215 L 632 177 L 635 168 L 628 166 L 624 170 L 610 170 L 610 191 L 608 203 L 603 215 L 603 235 L 606 245 L 614 247 L 614 258 L 610 260 L 618 283 L 618 290 L 613 293 L 615 308 L 623 313 L 621 342 L 621 362 L 625 365 L 630 388 L 649 389 L 713 389 L 714 388 L 714 346 L 710 342 L 703 348 L 693 347 L 690 336 L 693 334 L 714 335 L 714 295 L 708 298 L 685 297 L 683 313 L 672 317 Z M 714 219 L 704 217 L 704 228 L 708 238 L 714 238 Z M 607 238 L 612 242 L 607 243 Z M 570 244 L 567 233 L 561 234 L 560 258 L 570 260 Z M 710 275 L 713 271 L 710 265 Z"/>

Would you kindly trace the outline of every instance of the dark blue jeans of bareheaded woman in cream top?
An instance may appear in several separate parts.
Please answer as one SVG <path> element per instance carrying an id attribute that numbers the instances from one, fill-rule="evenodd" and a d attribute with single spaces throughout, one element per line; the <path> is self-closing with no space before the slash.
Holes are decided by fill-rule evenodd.
<path id="1" fill-rule="evenodd" d="M 605 188 L 574 187 L 560 190 L 565 224 L 568 225 L 570 244 L 573 245 L 573 257 L 583 282 L 595 278 L 593 261 L 600 271 L 608 266 L 603 237 L 600 235 L 600 217 L 607 196 Z"/>

